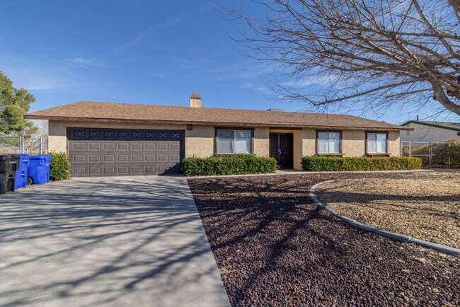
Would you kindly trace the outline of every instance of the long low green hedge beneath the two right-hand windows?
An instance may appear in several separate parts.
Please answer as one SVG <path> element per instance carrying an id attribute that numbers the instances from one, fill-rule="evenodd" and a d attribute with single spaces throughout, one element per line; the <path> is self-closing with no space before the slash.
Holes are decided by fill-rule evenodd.
<path id="1" fill-rule="evenodd" d="M 304 156 L 302 169 L 312 172 L 344 170 L 415 170 L 422 167 L 420 158 L 343 158 L 334 156 Z"/>

